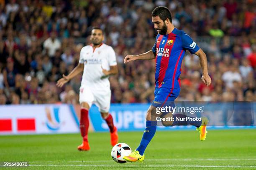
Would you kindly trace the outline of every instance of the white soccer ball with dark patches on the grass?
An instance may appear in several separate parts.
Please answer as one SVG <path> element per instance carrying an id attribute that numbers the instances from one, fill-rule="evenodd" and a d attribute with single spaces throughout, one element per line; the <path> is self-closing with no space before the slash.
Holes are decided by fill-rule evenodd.
<path id="1" fill-rule="evenodd" d="M 118 143 L 111 150 L 111 156 L 117 163 L 126 163 L 123 157 L 128 156 L 130 153 L 131 148 L 126 143 Z"/>

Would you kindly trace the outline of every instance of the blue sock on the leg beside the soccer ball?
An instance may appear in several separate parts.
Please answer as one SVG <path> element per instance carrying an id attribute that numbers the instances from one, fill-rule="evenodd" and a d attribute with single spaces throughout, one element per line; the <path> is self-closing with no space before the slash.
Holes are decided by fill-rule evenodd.
<path id="1" fill-rule="evenodd" d="M 156 121 L 146 121 L 146 128 L 144 130 L 142 139 L 141 139 L 141 144 L 138 146 L 136 150 L 140 153 L 140 155 L 144 154 L 144 151 L 146 150 L 148 143 L 151 141 L 151 139 L 154 137 L 156 133 Z"/>

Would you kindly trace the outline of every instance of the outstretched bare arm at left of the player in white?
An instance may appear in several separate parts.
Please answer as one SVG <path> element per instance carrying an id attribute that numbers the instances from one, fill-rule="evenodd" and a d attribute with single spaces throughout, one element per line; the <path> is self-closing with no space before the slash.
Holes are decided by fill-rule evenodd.
<path id="1" fill-rule="evenodd" d="M 62 75 L 62 78 L 57 81 L 57 87 L 62 87 L 64 84 L 66 84 L 69 80 L 71 80 L 73 77 L 78 75 L 80 72 L 84 70 L 84 64 L 79 63 L 77 67 L 75 67 L 72 72 L 69 73 L 69 75 Z"/>

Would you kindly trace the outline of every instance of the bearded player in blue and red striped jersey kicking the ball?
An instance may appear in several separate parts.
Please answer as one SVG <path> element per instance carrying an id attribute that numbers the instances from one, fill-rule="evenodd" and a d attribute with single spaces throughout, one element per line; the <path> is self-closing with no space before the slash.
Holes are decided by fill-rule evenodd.
<path id="1" fill-rule="evenodd" d="M 144 160 L 144 151 L 156 132 L 156 107 L 162 107 L 167 102 L 174 102 L 179 95 L 179 75 L 181 74 L 182 59 L 186 50 L 200 58 L 202 81 L 207 86 L 211 84 L 205 53 L 189 35 L 174 27 L 170 10 L 163 6 L 156 7 L 151 16 L 154 28 L 158 32 L 152 50 L 140 55 L 127 55 L 124 59 L 124 63 L 134 60 L 156 60 L 155 98 L 146 113 L 146 128 L 140 145 L 134 152 L 124 157 L 125 160 L 130 162 L 142 162 Z M 194 125 L 200 133 L 200 140 L 205 140 L 207 118 L 201 121 L 177 122 L 175 117 L 187 116 L 182 114 L 174 114 L 172 116 L 174 121 L 170 122 L 171 125 Z"/>

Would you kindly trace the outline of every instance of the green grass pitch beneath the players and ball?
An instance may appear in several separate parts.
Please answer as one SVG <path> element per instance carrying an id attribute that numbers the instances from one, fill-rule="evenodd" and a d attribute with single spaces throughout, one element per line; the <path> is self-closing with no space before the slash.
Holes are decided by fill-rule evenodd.
<path id="1" fill-rule="evenodd" d="M 134 150 L 142 133 L 119 133 L 119 142 Z M 109 133 L 90 133 L 87 152 L 77 150 L 81 140 L 79 134 L 0 136 L 0 162 L 28 161 L 25 169 L 256 169 L 256 129 L 208 130 L 203 142 L 197 131 L 157 131 L 144 163 L 115 163 Z"/>

